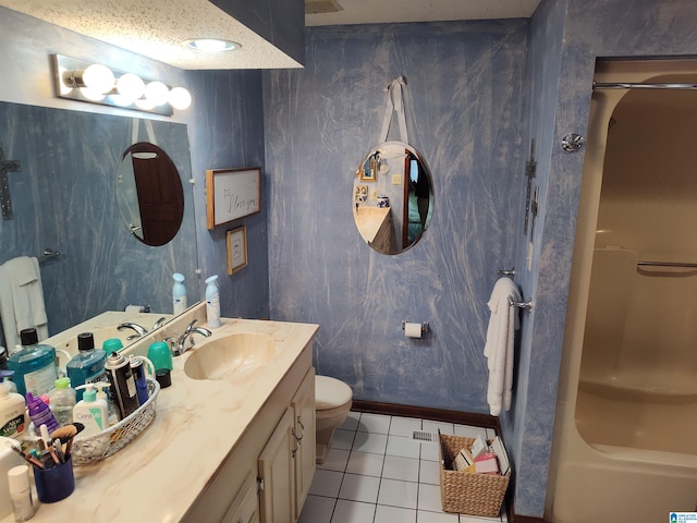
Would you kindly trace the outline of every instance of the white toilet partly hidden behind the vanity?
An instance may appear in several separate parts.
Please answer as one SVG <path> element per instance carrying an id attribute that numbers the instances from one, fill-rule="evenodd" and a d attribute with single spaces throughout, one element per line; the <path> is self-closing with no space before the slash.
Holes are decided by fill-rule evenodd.
<path id="1" fill-rule="evenodd" d="M 315 376 L 315 418 L 317 424 L 317 463 L 323 463 L 334 430 L 351 411 L 353 391 L 343 381 L 329 376 Z"/>

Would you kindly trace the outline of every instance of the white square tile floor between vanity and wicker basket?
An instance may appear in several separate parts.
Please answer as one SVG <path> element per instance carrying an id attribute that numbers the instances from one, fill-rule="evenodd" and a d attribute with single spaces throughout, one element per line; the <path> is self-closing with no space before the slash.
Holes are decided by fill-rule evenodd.
<path id="1" fill-rule="evenodd" d="M 508 523 L 442 511 L 438 447 L 414 430 L 487 438 L 493 430 L 452 423 L 351 412 L 317 465 L 298 523 Z"/>

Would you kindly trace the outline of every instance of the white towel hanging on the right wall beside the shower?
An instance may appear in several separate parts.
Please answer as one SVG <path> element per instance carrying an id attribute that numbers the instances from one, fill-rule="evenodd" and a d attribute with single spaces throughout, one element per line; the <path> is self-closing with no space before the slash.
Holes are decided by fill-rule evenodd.
<path id="1" fill-rule="evenodd" d="M 521 302 L 521 291 L 512 279 L 500 278 L 487 303 L 491 317 L 484 346 L 489 369 L 487 402 L 492 416 L 511 409 L 514 340 L 515 331 L 521 327 L 518 307 L 511 306 L 511 300 Z"/>

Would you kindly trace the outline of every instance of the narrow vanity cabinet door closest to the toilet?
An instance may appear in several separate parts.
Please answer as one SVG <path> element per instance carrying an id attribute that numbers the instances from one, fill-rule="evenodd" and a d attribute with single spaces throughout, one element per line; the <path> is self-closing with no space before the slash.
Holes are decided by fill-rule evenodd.
<path id="1" fill-rule="evenodd" d="M 310 367 L 291 402 L 295 435 L 295 519 L 301 516 L 303 504 L 315 476 L 315 369 Z"/>

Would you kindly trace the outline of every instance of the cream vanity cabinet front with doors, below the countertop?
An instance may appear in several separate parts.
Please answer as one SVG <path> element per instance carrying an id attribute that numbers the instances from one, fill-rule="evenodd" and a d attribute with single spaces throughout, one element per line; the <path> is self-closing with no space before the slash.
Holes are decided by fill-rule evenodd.
<path id="1" fill-rule="evenodd" d="M 314 474 L 315 369 L 310 342 L 183 521 L 294 523 Z M 254 488 L 249 487 L 250 478 Z"/>

